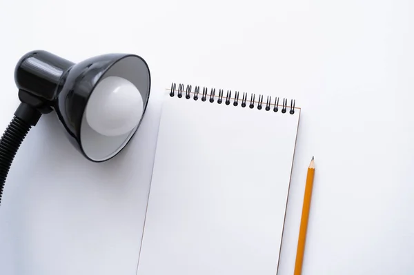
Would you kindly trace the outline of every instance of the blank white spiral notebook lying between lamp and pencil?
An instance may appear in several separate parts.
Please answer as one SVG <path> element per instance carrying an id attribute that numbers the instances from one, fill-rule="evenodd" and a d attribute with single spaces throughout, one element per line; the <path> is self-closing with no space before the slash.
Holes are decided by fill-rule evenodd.
<path id="1" fill-rule="evenodd" d="M 290 99 L 172 84 L 137 274 L 277 274 L 299 114 Z"/>

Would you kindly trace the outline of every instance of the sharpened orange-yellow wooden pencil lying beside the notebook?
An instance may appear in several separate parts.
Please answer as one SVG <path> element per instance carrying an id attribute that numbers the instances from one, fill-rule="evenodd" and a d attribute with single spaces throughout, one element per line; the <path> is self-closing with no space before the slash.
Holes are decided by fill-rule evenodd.
<path id="1" fill-rule="evenodd" d="M 308 175 L 306 176 L 306 186 L 304 195 L 304 206 L 302 208 L 302 218 L 300 221 L 299 238 L 297 241 L 297 252 L 295 262 L 294 275 L 302 274 L 302 263 L 304 261 L 306 231 L 308 230 L 309 210 L 311 209 L 311 197 L 313 187 L 313 176 L 315 175 L 315 161 L 313 160 L 308 167 Z"/>

